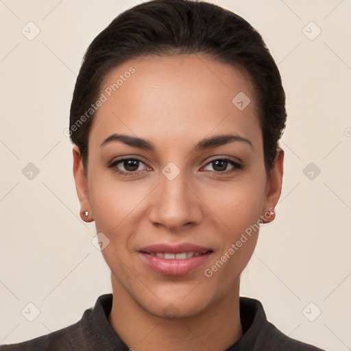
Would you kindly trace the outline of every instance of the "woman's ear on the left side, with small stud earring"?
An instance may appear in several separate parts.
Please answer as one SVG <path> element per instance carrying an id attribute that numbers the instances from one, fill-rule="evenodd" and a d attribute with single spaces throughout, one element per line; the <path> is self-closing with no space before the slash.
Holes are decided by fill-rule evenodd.
<path id="1" fill-rule="evenodd" d="M 88 180 L 84 173 L 80 148 L 77 147 L 77 145 L 74 145 L 72 152 L 75 189 L 77 190 L 77 195 L 80 199 L 80 217 L 85 222 L 91 222 L 94 219 L 89 202 Z M 88 215 L 86 216 L 85 213 L 88 213 Z"/>

